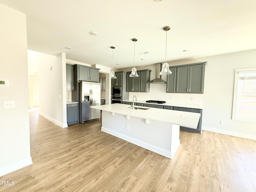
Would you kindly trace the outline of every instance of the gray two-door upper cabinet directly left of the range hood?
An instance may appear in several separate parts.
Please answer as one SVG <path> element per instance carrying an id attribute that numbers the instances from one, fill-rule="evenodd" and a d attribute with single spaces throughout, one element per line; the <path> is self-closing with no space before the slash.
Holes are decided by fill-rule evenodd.
<path id="1" fill-rule="evenodd" d="M 126 92 L 149 92 L 151 70 L 138 70 L 138 77 L 130 77 L 131 72 L 126 73 Z"/>

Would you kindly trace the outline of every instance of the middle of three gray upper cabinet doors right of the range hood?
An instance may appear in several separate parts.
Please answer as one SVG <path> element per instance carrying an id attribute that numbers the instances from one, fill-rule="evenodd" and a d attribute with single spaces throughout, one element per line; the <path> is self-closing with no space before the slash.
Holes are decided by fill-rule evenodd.
<path id="1" fill-rule="evenodd" d="M 190 66 L 177 67 L 177 93 L 188 93 L 189 68 Z"/>

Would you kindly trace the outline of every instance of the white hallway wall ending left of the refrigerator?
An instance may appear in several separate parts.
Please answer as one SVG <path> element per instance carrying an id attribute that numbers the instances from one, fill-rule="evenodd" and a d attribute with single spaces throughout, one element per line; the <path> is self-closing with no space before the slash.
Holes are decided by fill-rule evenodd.
<path id="1" fill-rule="evenodd" d="M 29 50 L 28 58 L 29 66 L 32 63 L 38 65 L 40 114 L 61 127 L 67 127 L 66 54 L 52 56 Z"/>

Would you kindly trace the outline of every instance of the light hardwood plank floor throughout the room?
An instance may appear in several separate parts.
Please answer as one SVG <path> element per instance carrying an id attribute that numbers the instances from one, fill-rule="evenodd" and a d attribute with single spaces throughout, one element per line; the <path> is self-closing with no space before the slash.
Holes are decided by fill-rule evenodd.
<path id="1" fill-rule="evenodd" d="M 0 177 L 0 192 L 255 192 L 256 141 L 180 131 L 172 160 L 100 131 L 60 128 L 30 112 L 34 164 Z"/>

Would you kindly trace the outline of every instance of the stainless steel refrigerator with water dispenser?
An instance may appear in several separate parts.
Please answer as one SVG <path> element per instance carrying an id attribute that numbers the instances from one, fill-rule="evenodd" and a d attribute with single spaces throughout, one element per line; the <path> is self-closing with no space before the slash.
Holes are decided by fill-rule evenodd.
<path id="1" fill-rule="evenodd" d="M 100 118 L 100 110 L 90 106 L 100 105 L 100 83 L 82 81 L 79 83 L 79 122 Z"/>

